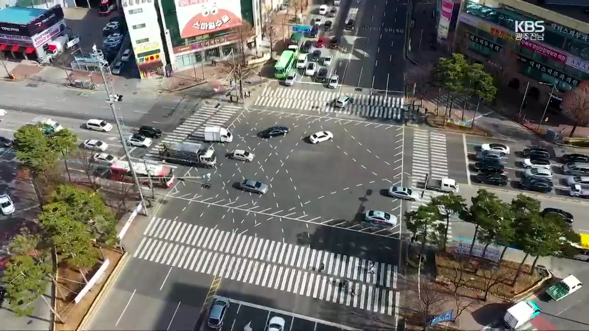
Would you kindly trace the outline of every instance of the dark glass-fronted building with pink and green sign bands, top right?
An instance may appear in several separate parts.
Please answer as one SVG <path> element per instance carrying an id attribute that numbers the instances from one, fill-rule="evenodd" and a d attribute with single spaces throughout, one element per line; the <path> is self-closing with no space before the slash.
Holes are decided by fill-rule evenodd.
<path id="1" fill-rule="evenodd" d="M 555 87 L 550 105 L 558 108 L 559 95 L 589 79 L 586 8 L 531 0 L 467 0 L 459 13 L 454 47 L 502 71 L 507 86 L 522 94 L 530 82 L 528 97 L 547 102 Z"/>

